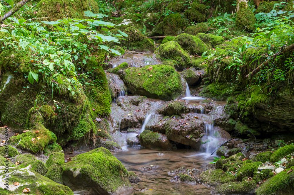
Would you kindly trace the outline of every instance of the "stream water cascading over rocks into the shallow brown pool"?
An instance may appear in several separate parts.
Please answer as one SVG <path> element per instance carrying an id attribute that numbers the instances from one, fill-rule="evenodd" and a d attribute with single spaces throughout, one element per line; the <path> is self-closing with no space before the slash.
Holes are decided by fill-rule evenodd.
<path id="1" fill-rule="evenodd" d="M 113 58 L 110 62 L 112 67 L 116 67 L 117 65 L 128 62 L 131 67 L 143 67 L 146 65 L 155 65 L 160 62 L 156 60 L 155 55 L 153 53 L 130 53 L 126 54 L 123 57 Z M 117 79 L 113 79 L 115 82 Z M 184 82 L 185 79 L 182 78 Z M 119 81 L 117 81 L 119 82 Z M 121 92 L 117 94 L 117 97 L 113 100 L 114 103 L 119 101 L 120 98 L 123 98 L 125 95 L 126 87 L 121 85 Z M 191 96 L 190 88 L 188 83 L 186 82 L 186 96 L 181 100 L 185 100 L 190 104 L 198 104 L 201 100 L 205 98 L 199 96 Z M 132 183 L 134 187 L 134 193 L 141 193 L 140 189 L 146 188 L 149 189 L 145 191 L 145 194 L 210 194 L 210 188 L 204 185 L 195 184 L 183 184 L 177 182 L 171 182 L 171 179 L 174 176 L 168 175 L 168 172 L 177 169 L 183 165 L 189 169 L 200 169 L 209 162 L 213 161 L 213 156 L 211 153 L 217 149 L 219 145 L 221 145 L 220 138 L 218 138 L 218 133 L 214 129 L 213 126 L 213 114 L 204 113 L 204 107 L 200 109 L 200 113 L 203 121 L 205 122 L 205 135 L 201 141 L 201 147 L 199 151 L 195 149 L 178 149 L 178 150 L 150 150 L 142 147 L 141 145 L 128 145 L 128 139 L 136 139 L 138 133 L 143 132 L 143 130 L 148 129 L 148 123 L 151 122 L 156 115 L 156 111 L 162 105 L 167 104 L 159 104 L 151 108 L 143 121 L 141 130 L 137 133 L 122 133 L 120 132 L 120 124 L 121 121 L 118 121 L 118 131 L 114 134 L 114 138 L 116 142 L 122 147 L 122 150 L 119 152 L 112 152 L 113 155 L 122 162 L 122 164 L 126 167 L 128 171 L 135 172 L 140 178 L 141 181 L 138 183 Z M 220 102 L 223 104 L 223 102 Z M 217 111 L 218 106 L 216 106 L 211 113 Z M 197 111 L 195 111 L 197 112 Z M 147 127 L 147 128 L 146 128 Z M 126 131 L 124 131 L 126 132 Z M 159 166 L 158 169 L 151 169 L 149 171 L 142 171 L 140 168 L 145 166 Z"/>

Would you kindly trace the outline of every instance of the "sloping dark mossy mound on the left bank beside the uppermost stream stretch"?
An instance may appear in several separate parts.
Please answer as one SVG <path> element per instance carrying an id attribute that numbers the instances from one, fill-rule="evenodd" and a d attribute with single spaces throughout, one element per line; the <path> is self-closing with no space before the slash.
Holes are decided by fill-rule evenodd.
<path id="1" fill-rule="evenodd" d="M 129 50 L 137 52 L 154 52 L 156 47 L 154 42 L 150 41 L 145 35 L 141 33 L 140 30 L 136 29 L 133 26 L 130 26 L 124 30 L 128 35 L 126 40 L 121 41 L 122 46 L 126 46 Z"/>

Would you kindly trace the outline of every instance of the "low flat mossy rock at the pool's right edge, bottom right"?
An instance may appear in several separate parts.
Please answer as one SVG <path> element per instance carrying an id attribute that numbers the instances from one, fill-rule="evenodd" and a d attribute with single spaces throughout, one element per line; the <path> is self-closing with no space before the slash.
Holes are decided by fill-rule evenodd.
<path id="1" fill-rule="evenodd" d="M 213 171 L 206 170 L 200 174 L 199 178 L 202 183 L 206 183 L 210 186 L 218 186 L 220 184 L 235 181 L 235 177 L 232 174 L 223 172 L 223 170 L 220 169 Z"/>

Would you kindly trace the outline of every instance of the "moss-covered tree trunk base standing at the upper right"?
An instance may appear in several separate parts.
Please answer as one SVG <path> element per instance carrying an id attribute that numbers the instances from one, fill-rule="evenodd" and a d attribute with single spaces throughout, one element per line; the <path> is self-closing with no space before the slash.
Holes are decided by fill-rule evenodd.
<path id="1" fill-rule="evenodd" d="M 236 15 L 236 28 L 239 30 L 246 30 L 246 31 L 255 31 L 255 16 L 247 2 L 240 2 L 239 3 L 239 11 L 237 11 Z"/>

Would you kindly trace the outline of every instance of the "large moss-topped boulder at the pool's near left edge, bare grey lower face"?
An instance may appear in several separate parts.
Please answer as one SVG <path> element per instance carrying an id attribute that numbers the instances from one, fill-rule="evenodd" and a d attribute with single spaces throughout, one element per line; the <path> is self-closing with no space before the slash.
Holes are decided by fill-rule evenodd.
<path id="1" fill-rule="evenodd" d="M 62 167 L 64 183 L 72 190 L 84 186 L 100 194 L 118 195 L 133 189 L 126 168 L 103 147 L 79 154 Z"/>

